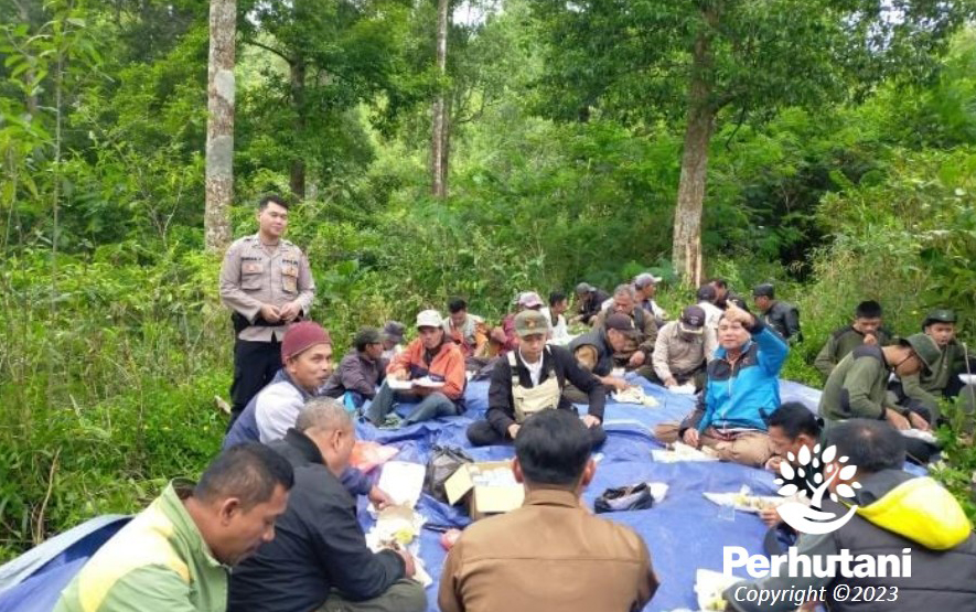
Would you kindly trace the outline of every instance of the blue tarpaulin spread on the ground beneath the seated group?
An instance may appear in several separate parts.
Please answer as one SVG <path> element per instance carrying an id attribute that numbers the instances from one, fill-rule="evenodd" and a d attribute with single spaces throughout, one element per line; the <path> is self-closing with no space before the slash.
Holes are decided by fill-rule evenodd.
<path id="1" fill-rule="evenodd" d="M 640 383 L 659 405 L 646 408 L 608 401 L 604 416 L 607 443 L 597 455 L 597 476 L 583 500 L 592 507 L 593 500 L 605 488 L 643 481 L 667 483 L 667 496 L 653 508 L 602 516 L 630 526 L 647 543 L 662 584 L 645 610 L 694 610 L 697 609 L 696 569 L 721 571 L 725 546 L 741 546 L 750 554 L 761 554 L 765 534 L 765 527 L 757 516 L 721 509 L 705 500 L 701 493 L 738 491 L 746 484 L 758 494 L 771 494 L 773 476 L 762 470 L 731 463 L 654 462 L 651 451 L 661 448 L 651 433 L 654 426 L 679 420 L 691 410 L 694 398 L 668 393 L 643 378 L 632 382 Z M 475 419 L 483 418 L 487 408 L 487 383 L 470 383 L 465 396 L 468 411 L 462 417 L 399 430 L 379 430 L 360 423 L 360 438 L 396 445 L 400 449 L 397 460 L 418 463 L 427 462 L 435 443 L 460 447 L 478 460 L 511 458 L 511 447 L 474 449 L 468 443 L 465 429 Z M 815 410 L 819 391 L 783 382 L 781 396 L 783 401 L 803 401 Z M 400 407 L 404 415 L 408 410 L 407 406 Z M 462 527 L 469 522 L 462 508 L 448 506 L 427 495 L 421 498 L 418 509 L 430 524 Z M 364 522 L 368 520 L 365 513 L 363 517 Z M 125 520 L 120 517 L 93 519 L 0 567 L 0 612 L 50 612 L 57 593 L 84 560 Z M 420 538 L 420 557 L 436 581 L 428 589 L 430 611 L 438 609 L 437 587 L 446 555 L 439 538 L 439 533 L 427 529 Z"/>

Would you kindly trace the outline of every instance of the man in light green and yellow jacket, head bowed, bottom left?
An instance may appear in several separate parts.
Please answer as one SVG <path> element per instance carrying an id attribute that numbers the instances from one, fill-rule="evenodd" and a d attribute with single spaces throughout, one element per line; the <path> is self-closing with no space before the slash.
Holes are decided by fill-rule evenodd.
<path id="1" fill-rule="evenodd" d="M 268 447 L 224 451 L 195 486 L 171 482 L 99 548 L 54 612 L 223 612 L 229 566 L 275 537 L 293 480 Z"/>

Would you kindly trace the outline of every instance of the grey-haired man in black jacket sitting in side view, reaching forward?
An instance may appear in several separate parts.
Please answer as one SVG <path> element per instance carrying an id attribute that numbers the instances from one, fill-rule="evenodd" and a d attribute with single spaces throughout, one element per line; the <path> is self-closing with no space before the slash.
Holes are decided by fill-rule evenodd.
<path id="1" fill-rule="evenodd" d="M 339 479 L 355 442 L 345 407 L 320 397 L 305 405 L 283 440 L 270 444 L 294 468 L 294 487 L 276 540 L 230 578 L 230 612 L 427 609 L 423 588 L 410 580 L 410 554 L 366 546 L 356 502 Z"/>

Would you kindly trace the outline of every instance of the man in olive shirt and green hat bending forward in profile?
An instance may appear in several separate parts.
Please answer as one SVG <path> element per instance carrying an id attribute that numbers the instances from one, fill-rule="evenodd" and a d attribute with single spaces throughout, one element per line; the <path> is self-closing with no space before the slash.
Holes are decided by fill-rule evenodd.
<path id="1" fill-rule="evenodd" d="M 925 334 L 913 334 L 891 346 L 864 345 L 840 359 L 827 378 L 821 396 L 819 414 L 832 422 L 861 418 L 888 420 L 898 429 L 929 429 L 929 422 L 914 410 L 886 397 L 891 372 L 912 376 L 931 368 L 939 359 L 939 347 Z"/>

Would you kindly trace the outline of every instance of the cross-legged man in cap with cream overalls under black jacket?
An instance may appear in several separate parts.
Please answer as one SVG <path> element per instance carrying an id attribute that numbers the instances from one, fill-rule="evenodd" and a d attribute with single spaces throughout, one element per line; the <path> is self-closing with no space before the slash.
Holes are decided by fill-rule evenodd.
<path id="1" fill-rule="evenodd" d="M 535 310 L 515 316 L 518 348 L 495 364 L 489 387 L 486 420 L 468 428 L 468 439 L 476 447 L 502 444 L 515 439 L 529 416 L 549 408 L 571 410 L 562 395 L 566 383 L 587 394 L 589 410 L 583 422 L 593 445 L 602 444 L 607 433 L 600 426 L 607 394 L 596 376 L 582 369 L 562 346 L 547 346 L 548 318 Z"/>

